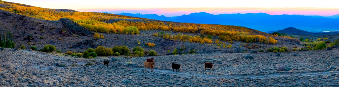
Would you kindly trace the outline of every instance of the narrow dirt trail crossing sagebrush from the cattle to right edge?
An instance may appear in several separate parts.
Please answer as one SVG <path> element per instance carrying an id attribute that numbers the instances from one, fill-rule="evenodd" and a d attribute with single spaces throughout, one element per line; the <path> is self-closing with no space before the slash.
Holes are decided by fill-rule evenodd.
<path id="1" fill-rule="evenodd" d="M 135 70 L 143 70 L 143 67 L 129 67 L 131 69 Z M 151 69 L 147 69 L 147 71 L 151 71 Z M 264 78 L 270 78 L 270 77 L 281 77 L 281 76 L 317 76 L 317 75 L 330 75 L 338 73 L 337 71 L 334 71 L 330 73 L 329 71 L 323 71 L 323 72 L 304 72 L 304 73 L 274 73 L 274 74 L 267 74 L 267 75 L 206 75 L 206 74 L 194 74 L 194 73 L 187 73 L 187 72 L 173 72 L 171 70 L 160 70 L 160 69 L 154 69 L 154 72 L 161 73 L 161 74 L 177 74 L 181 77 L 191 77 L 191 75 L 195 77 L 208 77 L 208 78 L 256 78 L 256 79 L 264 79 Z"/>

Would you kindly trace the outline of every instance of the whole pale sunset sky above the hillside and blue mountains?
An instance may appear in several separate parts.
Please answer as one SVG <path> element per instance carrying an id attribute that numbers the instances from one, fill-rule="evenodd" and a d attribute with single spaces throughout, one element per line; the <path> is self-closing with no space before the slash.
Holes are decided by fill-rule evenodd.
<path id="1" fill-rule="evenodd" d="M 4 0 L 43 8 L 81 12 L 141 13 L 166 17 L 195 12 L 211 14 L 267 13 L 270 15 L 339 14 L 336 0 Z"/>

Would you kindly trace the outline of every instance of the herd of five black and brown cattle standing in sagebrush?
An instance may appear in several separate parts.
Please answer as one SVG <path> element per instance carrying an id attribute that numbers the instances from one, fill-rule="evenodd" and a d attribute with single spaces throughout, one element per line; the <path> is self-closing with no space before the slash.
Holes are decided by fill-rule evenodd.
<path id="1" fill-rule="evenodd" d="M 107 65 L 107 67 L 108 67 L 108 63 L 109 61 L 104 61 L 104 65 Z M 148 58 L 144 62 L 144 69 L 151 68 L 151 71 L 153 72 L 154 64 L 155 64 L 154 58 Z M 180 66 L 181 66 L 180 64 L 172 63 L 173 72 L 174 72 L 174 69 L 176 69 L 176 71 L 178 72 Z M 213 70 L 213 63 L 205 63 L 205 70 L 207 70 L 206 68 L 211 68 L 211 70 Z"/>

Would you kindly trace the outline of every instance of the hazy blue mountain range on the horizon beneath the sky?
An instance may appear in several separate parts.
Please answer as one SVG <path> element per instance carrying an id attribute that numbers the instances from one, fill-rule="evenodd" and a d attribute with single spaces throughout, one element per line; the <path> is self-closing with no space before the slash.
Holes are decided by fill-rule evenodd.
<path id="1" fill-rule="evenodd" d="M 266 13 L 248 14 L 220 14 L 213 15 L 205 12 L 191 13 L 176 17 L 158 16 L 156 14 L 130 14 L 121 13 L 117 15 L 133 16 L 163 21 L 222 24 L 245 26 L 260 31 L 277 31 L 287 27 L 296 27 L 307 31 L 339 30 L 339 15 L 269 15 Z"/>

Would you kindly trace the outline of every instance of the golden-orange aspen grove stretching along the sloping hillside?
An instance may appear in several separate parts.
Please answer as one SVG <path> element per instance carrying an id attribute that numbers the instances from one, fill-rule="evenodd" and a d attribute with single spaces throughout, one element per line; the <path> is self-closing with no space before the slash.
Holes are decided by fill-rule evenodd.
<path id="1" fill-rule="evenodd" d="M 200 33 L 203 35 L 218 36 L 222 41 L 243 41 L 243 42 L 268 42 L 275 44 L 277 40 L 269 38 L 270 36 L 264 32 L 232 25 L 216 25 L 216 24 L 195 24 L 195 23 L 179 23 L 179 22 L 162 22 L 162 21 L 143 21 L 130 22 L 121 20 L 114 23 L 106 23 L 109 19 L 145 19 L 137 17 L 129 17 L 115 14 L 95 13 L 95 12 L 61 12 L 56 9 L 34 7 L 18 3 L 9 3 L 0 1 L 1 4 L 7 5 L 0 7 L 11 13 L 16 13 L 28 17 L 57 21 L 60 18 L 68 18 L 78 23 L 80 26 L 94 32 L 115 33 L 138 35 L 139 30 L 165 30 L 178 32 Z M 145 19 L 147 20 L 147 19 Z M 264 36 L 265 35 L 265 36 Z M 156 36 L 157 37 L 157 36 Z M 181 40 L 196 43 L 213 43 L 212 40 L 200 36 L 187 35 L 163 35 L 165 39 Z M 272 36 L 273 37 L 273 36 Z M 95 37 L 97 38 L 97 37 Z M 269 38 L 269 39 L 267 39 Z"/>

